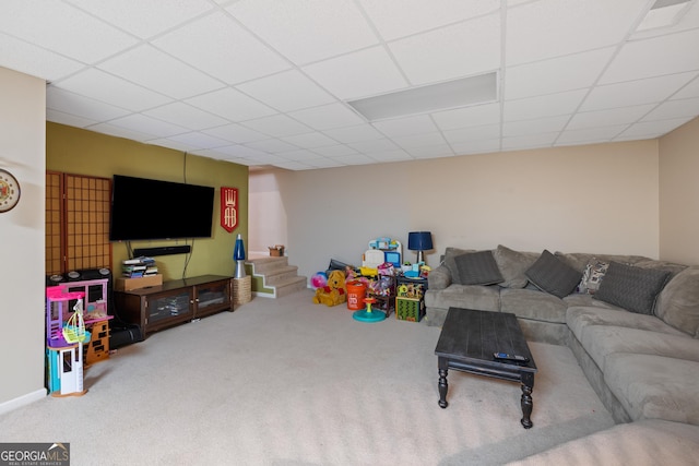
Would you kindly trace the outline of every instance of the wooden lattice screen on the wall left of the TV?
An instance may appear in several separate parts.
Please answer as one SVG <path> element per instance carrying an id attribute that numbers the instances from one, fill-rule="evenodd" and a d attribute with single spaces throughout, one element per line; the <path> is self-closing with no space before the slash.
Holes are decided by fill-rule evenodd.
<path id="1" fill-rule="evenodd" d="M 55 190 L 56 177 L 60 180 L 59 187 Z M 50 193 L 49 178 L 51 179 Z M 111 268 L 111 244 L 109 243 L 111 180 L 47 172 L 46 195 L 46 273 L 50 275 L 85 268 Z M 60 217 L 60 220 L 55 222 L 56 217 Z M 59 225 L 59 232 L 56 231 L 56 224 Z M 60 239 L 58 239 L 59 236 Z M 58 258 L 57 243 L 60 243 L 61 251 Z M 57 265 L 60 265 L 60 268 Z"/>

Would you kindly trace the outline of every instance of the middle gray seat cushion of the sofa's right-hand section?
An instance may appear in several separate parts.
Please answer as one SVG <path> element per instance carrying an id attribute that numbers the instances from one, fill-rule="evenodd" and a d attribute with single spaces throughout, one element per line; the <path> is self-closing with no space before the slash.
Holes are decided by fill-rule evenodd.
<path id="1" fill-rule="evenodd" d="M 614 325 L 589 325 L 578 338 L 602 371 L 606 360 L 616 353 L 656 355 L 699 362 L 699 340 L 687 335 L 668 335 Z M 698 374 L 699 377 L 699 374 Z"/>

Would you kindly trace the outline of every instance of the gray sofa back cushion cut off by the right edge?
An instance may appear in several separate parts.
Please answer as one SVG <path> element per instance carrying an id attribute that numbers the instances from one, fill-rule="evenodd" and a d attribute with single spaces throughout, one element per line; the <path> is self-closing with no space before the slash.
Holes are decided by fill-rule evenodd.
<path id="1" fill-rule="evenodd" d="M 655 314 L 666 324 L 699 338 L 699 265 L 675 275 L 657 297 Z"/>

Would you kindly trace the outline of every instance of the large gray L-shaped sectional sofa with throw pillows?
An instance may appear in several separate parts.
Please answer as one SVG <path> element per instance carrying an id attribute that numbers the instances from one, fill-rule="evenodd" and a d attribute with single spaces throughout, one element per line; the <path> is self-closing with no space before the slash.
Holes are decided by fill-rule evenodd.
<path id="1" fill-rule="evenodd" d="M 618 423 L 677 422 L 699 439 L 699 266 L 447 248 L 428 285 L 427 325 L 451 307 L 514 313 L 528 339 L 571 348 Z"/>

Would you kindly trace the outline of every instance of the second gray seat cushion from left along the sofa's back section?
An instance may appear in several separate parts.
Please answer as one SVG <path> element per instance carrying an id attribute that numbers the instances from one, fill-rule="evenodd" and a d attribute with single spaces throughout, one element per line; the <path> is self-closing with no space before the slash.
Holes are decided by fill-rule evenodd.
<path id="1" fill-rule="evenodd" d="M 566 302 L 544 291 L 502 288 L 500 311 L 534 321 L 566 323 Z"/>

